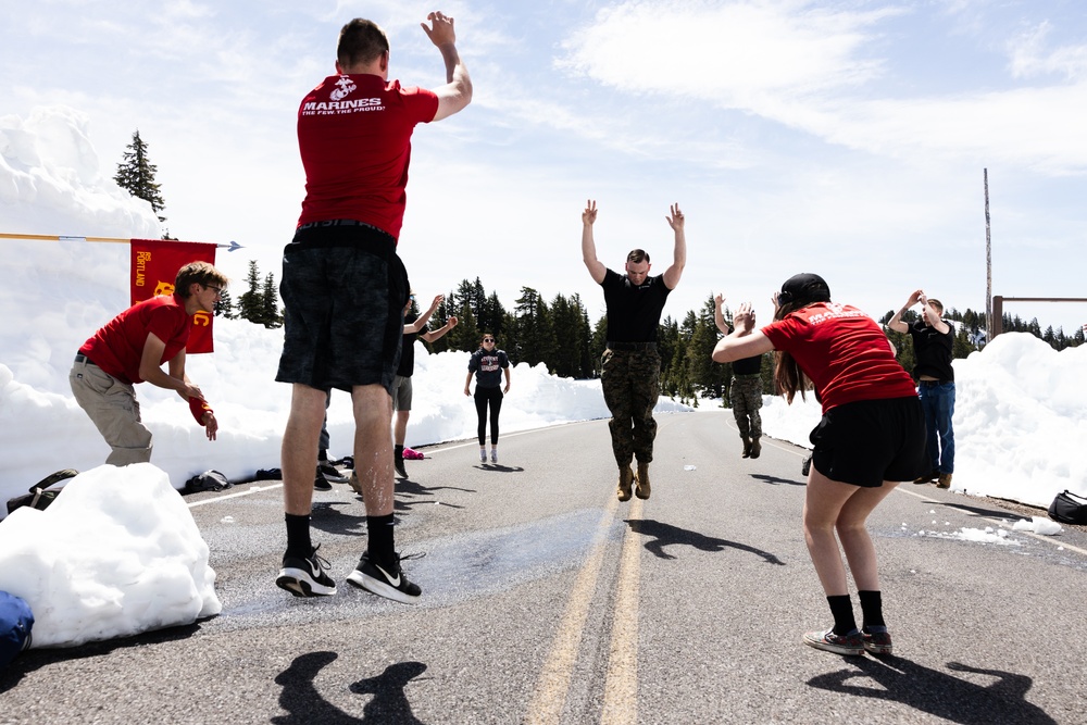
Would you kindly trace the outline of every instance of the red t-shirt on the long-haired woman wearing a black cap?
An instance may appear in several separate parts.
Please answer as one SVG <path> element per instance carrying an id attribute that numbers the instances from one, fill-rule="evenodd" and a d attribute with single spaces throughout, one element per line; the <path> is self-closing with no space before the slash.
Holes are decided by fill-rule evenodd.
<path id="1" fill-rule="evenodd" d="M 879 325 L 854 307 L 816 302 L 762 333 L 815 384 L 824 413 L 858 400 L 917 395 Z"/>

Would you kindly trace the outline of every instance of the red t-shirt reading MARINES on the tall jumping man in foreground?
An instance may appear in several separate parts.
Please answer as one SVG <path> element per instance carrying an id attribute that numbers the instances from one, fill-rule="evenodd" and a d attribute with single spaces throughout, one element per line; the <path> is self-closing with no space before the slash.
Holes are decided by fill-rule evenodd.
<path id="1" fill-rule="evenodd" d="M 438 97 L 372 74 L 333 75 L 302 99 L 298 148 L 305 168 L 299 226 L 351 218 L 400 237 L 415 125 Z"/>

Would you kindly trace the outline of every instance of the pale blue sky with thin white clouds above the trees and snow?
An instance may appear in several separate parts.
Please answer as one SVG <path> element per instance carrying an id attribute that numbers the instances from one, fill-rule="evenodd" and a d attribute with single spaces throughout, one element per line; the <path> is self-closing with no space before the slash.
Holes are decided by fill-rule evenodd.
<path id="1" fill-rule="evenodd" d="M 594 198 L 601 260 L 642 247 L 654 272 L 679 202 L 673 316 L 721 291 L 769 321 L 801 271 L 874 316 L 919 287 L 983 310 L 983 168 L 994 293 L 1087 297 L 1079 0 L 3 5 L 0 115 L 76 109 L 107 176 L 139 128 L 171 233 L 245 245 L 222 260 L 236 278 L 249 259 L 278 277 L 304 182 L 296 112 L 339 27 L 376 21 L 390 76 L 433 87 L 418 23 L 440 9 L 475 97 L 414 137 L 400 250 L 423 297 L 478 276 L 510 308 L 527 286 L 602 313 L 579 249 Z M 1069 334 L 1087 322 L 1084 303 L 1005 309 Z"/>

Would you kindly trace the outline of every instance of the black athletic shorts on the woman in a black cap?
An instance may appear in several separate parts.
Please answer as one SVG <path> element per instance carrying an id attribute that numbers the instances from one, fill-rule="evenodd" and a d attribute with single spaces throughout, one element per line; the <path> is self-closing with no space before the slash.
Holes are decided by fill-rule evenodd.
<path id="1" fill-rule="evenodd" d="M 925 416 L 916 396 L 832 408 L 809 439 L 812 465 L 832 480 L 879 487 L 927 473 Z"/>

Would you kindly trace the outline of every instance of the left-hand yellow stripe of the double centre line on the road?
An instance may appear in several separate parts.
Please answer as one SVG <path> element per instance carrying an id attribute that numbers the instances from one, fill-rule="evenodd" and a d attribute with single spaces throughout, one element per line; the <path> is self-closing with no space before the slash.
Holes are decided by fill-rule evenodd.
<path id="1" fill-rule="evenodd" d="M 559 624 L 558 634 L 551 642 L 551 650 L 540 670 L 535 692 L 525 714 L 525 723 L 551 725 L 561 721 L 566 695 L 570 692 L 570 683 L 574 675 L 574 665 L 577 662 L 577 653 L 582 645 L 582 633 L 589 615 L 589 604 L 597 589 L 597 580 L 600 578 L 608 530 L 615 522 L 619 499 L 614 496 L 609 498 L 608 507 L 597 525 L 596 534 L 592 536 L 589 557 L 582 565 L 582 571 L 574 582 L 570 599 L 566 601 L 566 611 Z"/>

